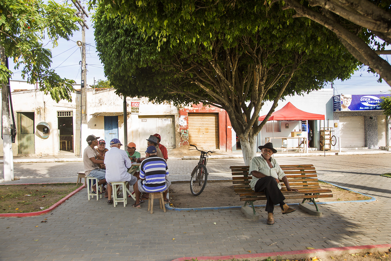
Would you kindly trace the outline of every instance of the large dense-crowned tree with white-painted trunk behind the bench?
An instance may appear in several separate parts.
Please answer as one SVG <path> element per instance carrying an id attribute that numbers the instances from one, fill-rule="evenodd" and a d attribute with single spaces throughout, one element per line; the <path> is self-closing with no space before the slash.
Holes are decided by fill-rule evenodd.
<path id="1" fill-rule="evenodd" d="M 226 110 L 248 164 L 282 97 L 346 79 L 357 67 L 332 32 L 291 15 L 253 1 L 105 1 L 95 41 L 118 94 Z M 273 106 L 258 122 L 265 101 Z"/>

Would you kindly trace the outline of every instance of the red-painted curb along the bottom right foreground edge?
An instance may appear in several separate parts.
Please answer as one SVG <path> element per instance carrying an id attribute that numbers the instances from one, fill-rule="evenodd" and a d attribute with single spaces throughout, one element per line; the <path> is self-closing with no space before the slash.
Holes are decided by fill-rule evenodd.
<path id="1" fill-rule="evenodd" d="M 319 253 L 329 251 L 343 251 L 343 250 L 356 250 L 356 249 L 370 249 L 370 248 L 382 248 L 391 247 L 391 244 L 385 245 L 366 245 L 366 246 L 355 246 L 355 247 L 332 247 L 332 248 L 320 248 L 320 249 L 305 249 L 305 250 L 294 250 L 284 252 L 268 252 L 259 254 L 243 254 L 243 255 L 232 255 L 232 256 L 197 256 L 197 257 L 179 257 L 172 261 L 185 261 L 185 260 L 220 260 L 220 259 L 234 259 L 234 258 L 250 258 L 250 257 L 269 257 L 269 256 L 283 256 L 293 254 L 308 254 L 308 253 Z"/>

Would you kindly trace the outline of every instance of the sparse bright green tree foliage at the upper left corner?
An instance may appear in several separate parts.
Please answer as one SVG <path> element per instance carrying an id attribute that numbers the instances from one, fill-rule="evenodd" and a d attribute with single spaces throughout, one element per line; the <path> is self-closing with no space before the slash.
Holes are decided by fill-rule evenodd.
<path id="1" fill-rule="evenodd" d="M 0 1 L 0 46 L 5 57 L 12 58 L 15 69 L 22 71 L 22 78 L 36 84 L 57 103 L 72 101 L 72 84 L 75 81 L 61 78 L 50 69 L 52 53 L 43 47 L 45 35 L 57 46 L 57 40 L 69 40 L 73 31 L 79 30 L 81 21 L 75 10 L 67 4 L 39 0 Z M 7 83 L 12 72 L 2 62 L 0 81 Z"/>

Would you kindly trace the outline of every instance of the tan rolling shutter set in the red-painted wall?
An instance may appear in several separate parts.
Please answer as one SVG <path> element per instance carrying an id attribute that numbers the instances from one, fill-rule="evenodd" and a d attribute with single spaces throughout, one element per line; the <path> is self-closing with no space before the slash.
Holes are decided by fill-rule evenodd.
<path id="1" fill-rule="evenodd" d="M 188 114 L 189 144 L 219 148 L 219 113 Z"/>

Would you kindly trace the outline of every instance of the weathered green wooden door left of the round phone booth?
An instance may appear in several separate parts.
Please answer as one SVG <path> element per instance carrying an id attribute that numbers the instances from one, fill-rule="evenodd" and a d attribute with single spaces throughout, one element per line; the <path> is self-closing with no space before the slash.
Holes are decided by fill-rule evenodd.
<path id="1" fill-rule="evenodd" d="M 34 112 L 18 112 L 18 154 L 35 154 Z"/>

